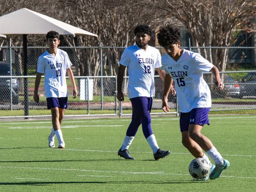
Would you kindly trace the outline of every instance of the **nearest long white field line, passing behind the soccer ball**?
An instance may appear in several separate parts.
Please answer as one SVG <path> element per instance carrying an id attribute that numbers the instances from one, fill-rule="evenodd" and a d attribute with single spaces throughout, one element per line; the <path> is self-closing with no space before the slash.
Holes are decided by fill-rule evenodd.
<path id="1" fill-rule="evenodd" d="M 99 172 L 99 173 L 113 173 L 113 174 L 149 174 L 149 175 L 188 175 L 189 174 L 175 174 L 164 172 L 126 172 L 126 171 L 105 171 L 105 170 L 89 170 L 89 169 L 63 169 L 63 168 L 45 168 L 45 167 L 9 167 L 0 166 L 0 168 L 13 168 L 13 169 L 37 169 L 37 170 L 58 170 L 58 171 L 78 171 L 78 172 Z M 240 178 L 240 179 L 256 179 L 256 177 L 243 177 L 243 176 L 222 176 L 228 178 Z"/>

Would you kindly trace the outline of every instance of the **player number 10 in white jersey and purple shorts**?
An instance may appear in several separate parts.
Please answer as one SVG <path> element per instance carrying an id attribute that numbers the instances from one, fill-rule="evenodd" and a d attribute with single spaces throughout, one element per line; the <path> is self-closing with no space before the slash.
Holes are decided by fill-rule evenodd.
<path id="1" fill-rule="evenodd" d="M 52 113 L 52 132 L 48 137 L 49 147 L 55 147 L 55 135 L 58 138 L 58 148 L 64 149 L 65 142 L 61 131 L 61 121 L 67 109 L 67 84 L 66 73 L 73 85 L 73 98 L 77 96 L 77 90 L 73 72 L 72 63 L 64 50 L 58 49 L 60 44 L 59 33 L 49 31 L 46 34 L 46 40 L 49 48 L 37 61 L 37 76 L 35 80 L 34 100 L 39 102 L 38 88 L 41 76 L 45 75 L 44 90 L 46 94 L 47 109 Z"/>

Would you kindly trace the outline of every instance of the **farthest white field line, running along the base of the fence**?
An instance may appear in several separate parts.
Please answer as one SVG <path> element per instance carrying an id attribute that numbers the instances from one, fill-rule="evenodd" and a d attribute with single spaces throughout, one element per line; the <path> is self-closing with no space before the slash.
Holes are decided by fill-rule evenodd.
<path id="1" fill-rule="evenodd" d="M 256 118 L 256 116 L 247 116 L 247 117 L 209 117 L 210 119 L 248 119 L 248 118 Z M 162 121 L 162 120 L 179 120 L 180 118 L 152 118 L 153 121 Z M 64 123 L 83 123 L 83 122 L 113 122 L 116 119 L 101 119 L 101 120 L 76 120 L 76 121 L 69 121 L 65 120 Z M 119 121 L 131 121 L 131 119 L 119 119 Z M 46 124 L 49 123 L 51 125 L 51 121 L 44 121 L 44 122 L 1 122 L 1 125 L 11 125 L 11 124 Z"/>

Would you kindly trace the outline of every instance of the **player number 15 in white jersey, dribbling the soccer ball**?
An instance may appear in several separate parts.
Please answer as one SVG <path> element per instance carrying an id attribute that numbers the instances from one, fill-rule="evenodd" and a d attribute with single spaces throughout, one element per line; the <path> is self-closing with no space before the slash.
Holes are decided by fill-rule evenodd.
<path id="1" fill-rule="evenodd" d="M 178 28 L 165 25 L 160 28 L 157 38 L 167 53 L 162 57 L 166 74 L 163 110 L 169 111 L 168 87 L 173 79 L 181 112 L 182 143 L 195 158 L 210 162 L 202 149 L 206 151 L 216 164 L 216 167 L 210 164 L 210 179 L 216 179 L 229 167 L 229 161 L 222 158 L 210 139 L 201 134 L 201 129 L 205 124 L 210 125 L 208 113 L 211 107 L 210 89 L 203 79 L 203 72 L 211 71 L 216 79 L 215 84 L 222 90 L 224 84 L 221 82 L 219 70 L 200 54 L 180 49 L 181 34 Z"/>

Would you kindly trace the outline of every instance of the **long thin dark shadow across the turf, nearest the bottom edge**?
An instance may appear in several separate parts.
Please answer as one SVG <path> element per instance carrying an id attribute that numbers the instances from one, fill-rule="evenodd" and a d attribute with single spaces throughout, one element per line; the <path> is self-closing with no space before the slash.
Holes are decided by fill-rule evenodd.
<path id="1" fill-rule="evenodd" d="M 187 181 L 69 181 L 69 182 L 1 182 L 0 185 L 51 185 L 51 184 L 192 184 L 197 183 L 192 180 Z M 207 184 L 208 182 L 201 182 Z"/>

